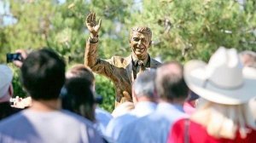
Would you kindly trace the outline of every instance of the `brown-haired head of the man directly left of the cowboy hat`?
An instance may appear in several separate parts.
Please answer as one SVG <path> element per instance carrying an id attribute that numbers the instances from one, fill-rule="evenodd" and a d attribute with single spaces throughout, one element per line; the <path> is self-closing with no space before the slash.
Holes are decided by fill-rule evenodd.
<path id="1" fill-rule="evenodd" d="M 183 79 L 183 66 L 176 61 L 161 65 L 156 70 L 155 86 L 160 100 L 183 102 L 189 88 Z"/>

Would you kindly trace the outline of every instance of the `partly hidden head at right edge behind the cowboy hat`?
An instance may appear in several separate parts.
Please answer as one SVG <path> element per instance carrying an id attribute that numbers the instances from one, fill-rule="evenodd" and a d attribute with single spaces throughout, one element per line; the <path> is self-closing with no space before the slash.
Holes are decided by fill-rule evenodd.
<path id="1" fill-rule="evenodd" d="M 256 68 L 256 53 L 253 51 L 242 51 L 240 53 L 241 63 L 243 66 Z"/>

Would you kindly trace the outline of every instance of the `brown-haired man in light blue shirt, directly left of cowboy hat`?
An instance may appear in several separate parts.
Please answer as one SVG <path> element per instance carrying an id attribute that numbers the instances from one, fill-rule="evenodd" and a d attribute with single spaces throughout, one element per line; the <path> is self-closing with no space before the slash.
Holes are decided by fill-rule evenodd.
<path id="1" fill-rule="evenodd" d="M 183 79 L 183 66 L 176 61 L 168 62 L 156 70 L 156 94 L 160 96 L 155 111 L 128 124 L 119 135 L 119 143 L 166 143 L 172 123 L 187 117 L 183 103 L 189 94 Z"/>

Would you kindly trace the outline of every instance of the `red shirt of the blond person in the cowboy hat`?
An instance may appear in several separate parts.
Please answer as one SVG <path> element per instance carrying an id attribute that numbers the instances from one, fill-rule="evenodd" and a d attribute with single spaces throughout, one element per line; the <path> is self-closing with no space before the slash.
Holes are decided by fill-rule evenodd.
<path id="1" fill-rule="evenodd" d="M 183 143 L 184 138 L 184 124 L 186 119 L 180 119 L 172 126 L 172 131 L 168 134 L 168 143 Z M 189 143 L 256 143 L 256 130 L 247 134 L 247 138 L 241 139 L 239 132 L 236 133 L 236 138 L 234 140 L 230 139 L 216 139 L 213 136 L 207 134 L 207 129 L 199 123 L 195 123 L 189 120 L 189 126 L 186 127 L 189 129 L 187 133 L 189 136 Z"/>

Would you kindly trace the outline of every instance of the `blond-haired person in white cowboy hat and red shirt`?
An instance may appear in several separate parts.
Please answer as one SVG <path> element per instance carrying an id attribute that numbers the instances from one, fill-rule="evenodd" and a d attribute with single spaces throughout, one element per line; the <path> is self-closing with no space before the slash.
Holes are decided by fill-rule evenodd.
<path id="1" fill-rule="evenodd" d="M 208 64 L 189 61 L 185 81 L 202 100 L 189 119 L 174 123 L 168 142 L 255 141 L 256 125 L 247 102 L 256 96 L 256 78 L 242 70 L 236 49 L 219 48 Z"/>

